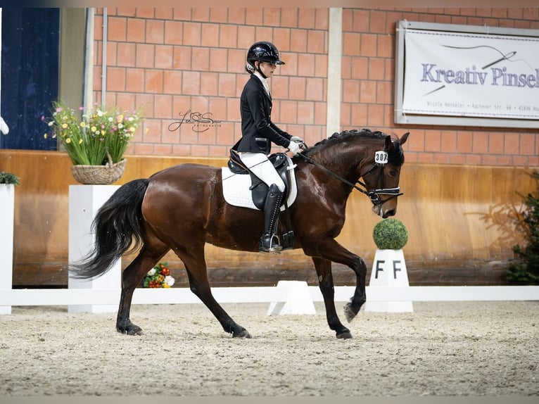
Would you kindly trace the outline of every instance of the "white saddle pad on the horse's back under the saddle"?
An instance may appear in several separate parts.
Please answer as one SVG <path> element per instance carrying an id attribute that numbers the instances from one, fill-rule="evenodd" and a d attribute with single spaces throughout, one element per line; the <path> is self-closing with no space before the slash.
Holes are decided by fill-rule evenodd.
<path id="1" fill-rule="evenodd" d="M 288 198 L 286 202 L 288 206 L 291 206 L 296 201 L 296 195 L 298 194 L 298 187 L 296 185 L 296 174 L 294 168 L 296 165 L 292 163 L 290 157 L 288 159 L 288 170 L 291 170 L 290 175 L 290 191 L 288 192 Z M 223 196 L 227 203 L 234 206 L 240 206 L 241 208 L 251 208 L 260 210 L 255 206 L 253 198 L 251 197 L 251 175 L 234 174 L 228 167 L 221 168 L 222 184 L 223 184 Z M 281 210 L 284 210 L 284 206 L 281 206 Z"/>

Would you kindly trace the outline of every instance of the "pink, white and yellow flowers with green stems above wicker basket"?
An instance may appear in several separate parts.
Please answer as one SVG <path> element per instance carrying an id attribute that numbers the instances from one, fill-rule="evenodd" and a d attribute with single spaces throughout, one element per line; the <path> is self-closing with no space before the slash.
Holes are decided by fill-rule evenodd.
<path id="1" fill-rule="evenodd" d="M 58 137 L 68 152 L 73 165 L 110 165 L 118 163 L 134 132 L 144 118 L 141 110 L 127 112 L 118 108 L 80 107 L 79 113 L 63 101 L 52 103 L 48 125 L 51 133 L 44 137 Z M 42 117 L 42 120 L 45 120 Z"/>

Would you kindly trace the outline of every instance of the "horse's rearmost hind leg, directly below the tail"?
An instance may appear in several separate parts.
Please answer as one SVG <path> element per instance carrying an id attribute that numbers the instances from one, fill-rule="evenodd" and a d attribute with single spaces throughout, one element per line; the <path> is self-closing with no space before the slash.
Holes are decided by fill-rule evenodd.
<path id="1" fill-rule="evenodd" d="M 120 296 L 120 307 L 118 308 L 118 317 L 116 317 L 116 329 L 122 334 L 135 335 L 141 334 L 141 327 L 135 325 L 129 320 L 131 312 L 131 302 L 134 290 L 139 286 L 142 278 L 153 268 L 170 248 L 163 247 L 159 250 L 148 251 L 143 246 L 137 258 L 130 263 L 124 272 L 122 272 L 122 295 Z"/>

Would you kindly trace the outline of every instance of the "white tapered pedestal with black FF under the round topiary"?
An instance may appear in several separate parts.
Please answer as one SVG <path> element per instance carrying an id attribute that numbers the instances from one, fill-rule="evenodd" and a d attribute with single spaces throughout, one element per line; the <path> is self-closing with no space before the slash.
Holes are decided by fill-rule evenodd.
<path id="1" fill-rule="evenodd" d="M 410 286 L 402 250 L 376 250 L 369 287 L 374 288 L 376 286 Z M 368 294 L 364 307 L 365 311 L 376 312 L 398 313 L 414 311 L 411 301 L 369 301 Z"/>

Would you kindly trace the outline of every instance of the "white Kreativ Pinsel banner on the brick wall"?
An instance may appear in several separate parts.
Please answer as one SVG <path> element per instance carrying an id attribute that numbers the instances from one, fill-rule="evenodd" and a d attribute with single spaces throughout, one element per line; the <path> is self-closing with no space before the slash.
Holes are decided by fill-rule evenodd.
<path id="1" fill-rule="evenodd" d="M 404 114 L 539 120 L 539 38 L 405 31 Z"/>

